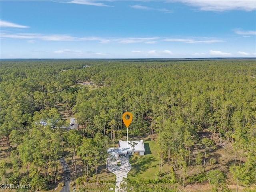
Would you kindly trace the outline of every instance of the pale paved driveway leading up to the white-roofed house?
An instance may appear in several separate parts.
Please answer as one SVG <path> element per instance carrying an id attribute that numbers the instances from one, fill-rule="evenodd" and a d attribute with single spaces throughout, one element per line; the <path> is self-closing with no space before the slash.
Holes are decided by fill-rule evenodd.
<path id="1" fill-rule="evenodd" d="M 120 161 L 121 166 L 116 166 L 117 162 Z M 123 178 L 127 178 L 128 172 L 131 170 L 132 166 L 129 163 L 129 156 L 122 158 L 108 158 L 108 170 L 116 175 L 116 187 L 120 185 L 120 181 Z M 116 188 L 115 192 L 118 192 Z"/>

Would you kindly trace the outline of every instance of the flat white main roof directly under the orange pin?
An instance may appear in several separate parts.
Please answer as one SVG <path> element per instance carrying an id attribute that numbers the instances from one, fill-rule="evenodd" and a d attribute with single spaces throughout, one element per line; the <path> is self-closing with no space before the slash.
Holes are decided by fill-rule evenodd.
<path id="1" fill-rule="evenodd" d="M 126 154 L 127 151 L 128 152 L 145 152 L 145 148 L 144 148 L 144 142 L 143 140 L 140 141 L 132 141 L 135 142 L 136 145 L 134 146 L 134 150 L 130 145 L 131 141 L 128 141 L 128 145 L 127 145 L 127 141 L 122 141 L 119 140 L 119 149 L 118 149 L 118 153 L 119 154 Z"/>

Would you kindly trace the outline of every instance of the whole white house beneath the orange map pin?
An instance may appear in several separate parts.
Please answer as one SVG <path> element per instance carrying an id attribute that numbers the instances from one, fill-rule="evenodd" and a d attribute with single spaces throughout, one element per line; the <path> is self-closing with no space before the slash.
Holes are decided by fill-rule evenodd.
<path id="1" fill-rule="evenodd" d="M 134 146 L 134 149 L 131 146 L 131 142 L 136 143 Z M 108 148 L 108 154 L 116 158 L 119 156 L 127 156 L 127 154 L 132 155 L 133 152 L 138 155 L 144 155 L 145 148 L 144 148 L 143 140 L 128 141 L 128 147 L 127 147 L 127 141 L 119 140 L 118 148 L 116 147 Z"/>

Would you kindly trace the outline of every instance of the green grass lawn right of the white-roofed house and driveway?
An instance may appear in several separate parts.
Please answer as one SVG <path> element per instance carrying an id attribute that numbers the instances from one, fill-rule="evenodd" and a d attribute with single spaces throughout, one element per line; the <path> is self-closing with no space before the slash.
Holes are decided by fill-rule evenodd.
<path id="1" fill-rule="evenodd" d="M 133 174 L 133 160 L 132 156 L 129 157 L 129 162 L 132 165 L 132 169 L 128 173 L 128 178 L 144 178 L 155 179 L 155 173 L 159 171 L 159 155 L 158 144 L 156 141 L 144 141 L 145 155 L 138 156 L 135 162 L 135 174 Z M 168 177 L 170 172 L 170 166 L 163 164 L 162 177 Z"/>

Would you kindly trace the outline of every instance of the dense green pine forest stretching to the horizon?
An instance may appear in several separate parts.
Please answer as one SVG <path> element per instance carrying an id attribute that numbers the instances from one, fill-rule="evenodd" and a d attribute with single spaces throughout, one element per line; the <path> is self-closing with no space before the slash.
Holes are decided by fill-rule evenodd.
<path id="1" fill-rule="evenodd" d="M 64 148 L 75 170 L 78 162 L 84 166 L 77 183 L 89 182 L 94 172 L 98 182 L 108 146 L 126 135 L 127 111 L 133 115 L 129 137 L 158 144 L 160 179 L 128 179 L 122 191 L 170 191 L 174 183 L 209 183 L 215 191 L 234 184 L 237 191 L 256 184 L 254 59 L 1 60 L 0 73 L 0 143 L 6 148 L 0 184 L 58 185 Z M 94 84 L 81 86 L 84 81 Z M 66 129 L 60 106 L 77 119 L 77 130 Z M 206 163 L 218 163 L 209 156 L 216 144 L 232 146 L 228 170 L 206 170 Z M 162 179 L 166 164 L 173 176 Z M 198 166 L 200 172 L 189 173 Z M 168 185 L 154 189 L 154 182 Z"/>

